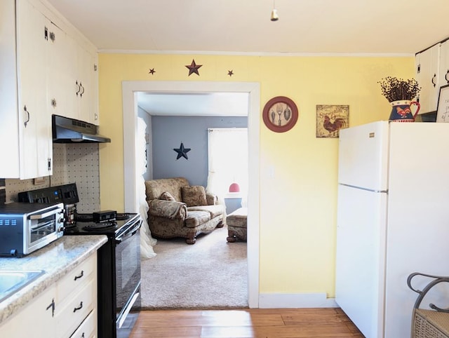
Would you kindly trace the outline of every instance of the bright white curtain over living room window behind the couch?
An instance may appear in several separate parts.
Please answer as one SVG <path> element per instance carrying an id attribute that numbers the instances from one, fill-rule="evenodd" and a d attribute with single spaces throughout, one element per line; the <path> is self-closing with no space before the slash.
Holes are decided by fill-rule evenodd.
<path id="1" fill-rule="evenodd" d="M 209 128 L 207 190 L 225 205 L 232 183 L 239 184 L 243 205 L 248 195 L 248 128 Z"/>

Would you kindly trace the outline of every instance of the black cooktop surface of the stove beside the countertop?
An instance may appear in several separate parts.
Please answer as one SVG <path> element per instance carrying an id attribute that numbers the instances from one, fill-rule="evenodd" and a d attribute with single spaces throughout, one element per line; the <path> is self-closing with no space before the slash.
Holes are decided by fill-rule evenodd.
<path id="1" fill-rule="evenodd" d="M 95 223 L 92 214 L 78 214 L 75 217 L 76 222 L 65 228 L 64 235 L 107 235 L 116 237 L 139 217 L 136 213 L 117 213 L 116 220 L 112 222 Z"/>

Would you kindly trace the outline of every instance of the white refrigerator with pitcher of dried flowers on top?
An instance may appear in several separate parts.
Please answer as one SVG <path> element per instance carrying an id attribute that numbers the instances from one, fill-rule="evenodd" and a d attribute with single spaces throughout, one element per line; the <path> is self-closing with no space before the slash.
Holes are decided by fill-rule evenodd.
<path id="1" fill-rule="evenodd" d="M 365 337 L 408 338 L 408 275 L 449 276 L 449 123 L 340 130 L 338 182 L 335 301 Z"/>

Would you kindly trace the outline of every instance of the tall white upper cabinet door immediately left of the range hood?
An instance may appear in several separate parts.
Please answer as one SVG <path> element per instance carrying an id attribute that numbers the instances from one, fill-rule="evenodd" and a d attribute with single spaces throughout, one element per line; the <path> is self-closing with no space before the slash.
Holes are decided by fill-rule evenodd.
<path id="1" fill-rule="evenodd" d="M 53 144 L 47 104 L 47 20 L 26 0 L 17 1 L 20 179 L 52 174 Z"/>

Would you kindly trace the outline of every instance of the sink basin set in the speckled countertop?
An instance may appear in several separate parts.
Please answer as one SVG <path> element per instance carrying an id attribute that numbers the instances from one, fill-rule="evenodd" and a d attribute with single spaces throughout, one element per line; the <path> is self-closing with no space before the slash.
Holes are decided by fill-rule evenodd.
<path id="1" fill-rule="evenodd" d="M 41 276 L 43 270 L 0 270 L 0 302 Z"/>

